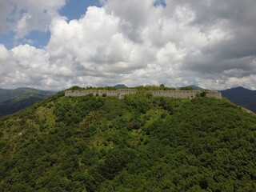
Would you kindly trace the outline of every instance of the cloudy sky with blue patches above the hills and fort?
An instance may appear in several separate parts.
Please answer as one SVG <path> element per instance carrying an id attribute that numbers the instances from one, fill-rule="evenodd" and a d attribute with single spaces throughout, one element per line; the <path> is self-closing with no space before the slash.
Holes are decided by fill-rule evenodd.
<path id="1" fill-rule="evenodd" d="M 0 0 L 0 87 L 256 90 L 255 0 Z"/>

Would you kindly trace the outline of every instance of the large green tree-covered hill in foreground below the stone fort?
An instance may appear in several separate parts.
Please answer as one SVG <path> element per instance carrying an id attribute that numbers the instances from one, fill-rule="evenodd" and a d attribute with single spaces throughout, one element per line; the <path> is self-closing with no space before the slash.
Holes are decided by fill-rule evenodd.
<path id="1" fill-rule="evenodd" d="M 254 191 L 256 118 L 217 98 L 64 97 L 0 118 L 0 191 Z"/>

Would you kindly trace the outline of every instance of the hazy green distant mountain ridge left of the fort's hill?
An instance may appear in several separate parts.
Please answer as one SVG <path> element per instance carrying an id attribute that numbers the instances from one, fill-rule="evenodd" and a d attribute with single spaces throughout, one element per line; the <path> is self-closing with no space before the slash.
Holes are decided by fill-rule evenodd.
<path id="1" fill-rule="evenodd" d="M 54 92 L 32 88 L 0 89 L 0 117 L 31 106 L 34 102 L 41 101 L 51 94 Z"/>

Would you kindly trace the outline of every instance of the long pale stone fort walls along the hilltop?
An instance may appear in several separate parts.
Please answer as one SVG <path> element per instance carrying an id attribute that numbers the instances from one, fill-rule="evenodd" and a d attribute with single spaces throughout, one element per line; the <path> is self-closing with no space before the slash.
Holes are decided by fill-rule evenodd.
<path id="1" fill-rule="evenodd" d="M 136 89 L 119 89 L 119 90 L 66 90 L 65 96 L 86 96 L 87 94 L 93 94 L 94 96 L 118 96 L 118 98 L 124 98 L 126 94 L 136 94 Z M 163 96 L 169 98 L 196 98 L 202 94 L 208 98 L 222 98 L 222 94 L 217 90 L 146 90 L 146 93 L 152 94 L 152 96 Z"/>

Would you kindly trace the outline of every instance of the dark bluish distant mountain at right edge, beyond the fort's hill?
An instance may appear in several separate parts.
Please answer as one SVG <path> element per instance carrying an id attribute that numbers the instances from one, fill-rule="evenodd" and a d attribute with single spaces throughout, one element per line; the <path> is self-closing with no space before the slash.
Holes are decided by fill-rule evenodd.
<path id="1" fill-rule="evenodd" d="M 242 86 L 238 86 L 236 88 L 222 90 L 221 92 L 222 96 L 228 98 L 231 102 L 256 113 L 256 90 L 248 90 Z"/>

